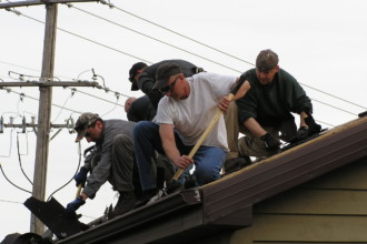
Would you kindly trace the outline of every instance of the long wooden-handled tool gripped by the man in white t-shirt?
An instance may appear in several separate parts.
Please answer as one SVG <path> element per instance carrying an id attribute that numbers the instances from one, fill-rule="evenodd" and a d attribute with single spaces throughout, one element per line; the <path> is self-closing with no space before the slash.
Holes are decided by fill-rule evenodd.
<path id="1" fill-rule="evenodd" d="M 242 83 L 245 82 L 245 78 L 240 77 L 236 87 L 230 91 L 230 93 L 227 95 L 227 99 L 229 101 L 232 101 L 237 91 L 239 90 L 239 88 L 242 85 Z M 250 87 L 248 85 L 248 88 L 246 89 L 246 92 L 250 89 Z M 222 111 L 218 108 L 218 111 L 215 115 L 215 118 L 211 120 L 210 124 L 207 126 L 207 129 L 204 131 L 204 133 L 201 134 L 201 136 L 199 138 L 199 140 L 197 141 L 197 143 L 195 144 L 195 146 L 191 149 L 190 153 L 189 153 L 189 157 L 192 159 L 195 153 L 198 151 L 198 149 L 200 148 L 200 145 L 202 144 L 202 142 L 206 140 L 206 138 L 208 136 L 208 134 L 211 132 L 214 125 L 218 122 L 219 118 L 221 116 Z M 166 194 L 170 194 L 172 192 L 176 192 L 177 190 L 181 189 L 182 185 L 177 181 L 179 179 L 179 176 L 184 173 L 184 169 L 179 169 L 176 174 L 173 175 L 173 177 L 171 179 L 171 181 L 169 182 L 169 184 L 167 185 L 165 192 Z"/>

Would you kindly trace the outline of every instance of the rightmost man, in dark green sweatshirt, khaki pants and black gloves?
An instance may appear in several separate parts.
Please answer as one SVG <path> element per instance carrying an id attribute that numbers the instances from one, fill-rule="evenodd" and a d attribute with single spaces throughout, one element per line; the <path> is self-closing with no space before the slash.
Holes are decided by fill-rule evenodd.
<path id="1" fill-rule="evenodd" d="M 241 74 L 251 89 L 236 101 L 237 105 L 230 106 L 231 112 L 226 118 L 226 123 L 236 124 L 227 126 L 229 156 L 269 156 L 279 150 L 279 132 L 281 140 L 294 142 L 320 131 L 311 116 L 310 99 L 297 80 L 279 68 L 278 62 L 277 53 L 262 50 L 256 59 L 256 69 Z M 300 116 L 298 131 L 291 113 Z M 236 123 L 237 119 L 239 123 Z M 246 134 L 239 141 L 238 130 Z M 229 161 L 225 170 L 232 166 Z"/>

